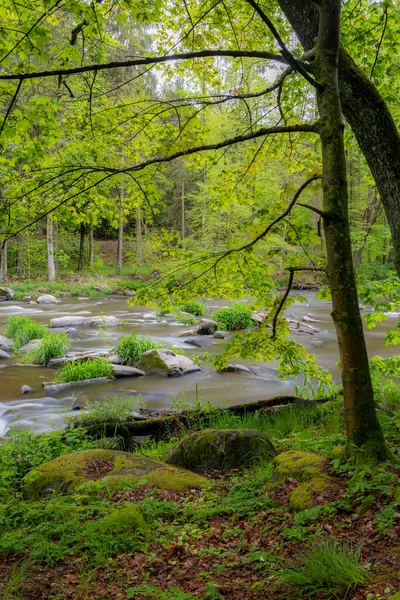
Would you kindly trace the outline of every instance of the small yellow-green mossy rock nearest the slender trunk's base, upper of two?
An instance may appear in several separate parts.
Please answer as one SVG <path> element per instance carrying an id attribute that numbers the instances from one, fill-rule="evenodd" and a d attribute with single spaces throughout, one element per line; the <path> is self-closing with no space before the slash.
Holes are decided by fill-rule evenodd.
<path id="1" fill-rule="evenodd" d="M 288 450 L 275 458 L 272 480 L 284 481 L 286 477 L 293 477 L 298 481 L 309 481 L 323 474 L 327 465 L 328 459 L 314 452 Z"/>

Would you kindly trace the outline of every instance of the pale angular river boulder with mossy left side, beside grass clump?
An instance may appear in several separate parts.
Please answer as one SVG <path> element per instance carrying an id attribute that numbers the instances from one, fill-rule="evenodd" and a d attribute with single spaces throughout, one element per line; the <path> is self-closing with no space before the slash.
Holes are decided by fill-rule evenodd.
<path id="1" fill-rule="evenodd" d="M 175 354 L 168 348 L 147 350 L 142 355 L 140 366 L 146 373 L 156 373 L 164 377 L 180 377 L 201 371 L 190 358 Z"/>

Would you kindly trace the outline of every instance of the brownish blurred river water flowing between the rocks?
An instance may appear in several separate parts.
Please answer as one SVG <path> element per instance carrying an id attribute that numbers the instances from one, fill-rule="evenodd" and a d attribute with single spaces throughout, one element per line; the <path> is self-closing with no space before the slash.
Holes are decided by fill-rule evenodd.
<path id="1" fill-rule="evenodd" d="M 314 323 L 319 333 L 309 335 L 294 333 L 297 341 L 304 344 L 307 350 L 316 354 L 321 365 L 329 369 L 335 379 L 339 378 L 336 368 L 338 348 L 334 327 L 330 317 L 329 302 L 315 299 L 312 292 L 303 292 L 307 303 L 296 302 L 288 309 L 288 313 L 300 318 L 312 313 L 322 323 Z M 208 300 L 208 316 L 219 306 L 226 305 L 225 301 Z M 72 341 L 72 350 L 106 350 L 118 343 L 121 335 L 132 331 L 146 334 L 161 342 L 177 348 L 184 348 L 187 356 L 197 353 L 220 352 L 225 340 L 213 340 L 206 349 L 194 348 L 185 343 L 178 333 L 185 326 L 174 321 L 154 321 L 147 318 L 146 313 L 152 312 L 146 307 L 129 307 L 126 297 L 106 298 L 67 298 L 58 305 L 34 305 L 28 302 L 3 302 L 0 304 L 0 332 L 4 330 L 7 317 L 26 315 L 38 321 L 48 323 L 53 317 L 64 315 L 114 315 L 124 322 L 119 327 L 99 331 L 90 327 L 79 327 L 79 339 Z M 385 346 L 384 339 L 387 329 L 395 326 L 395 318 L 380 323 L 373 330 L 366 331 L 366 339 L 370 356 L 380 354 L 390 356 L 397 354 L 396 347 Z M 0 435 L 7 431 L 10 425 L 18 424 L 31 428 L 36 432 L 59 427 L 63 422 L 65 412 L 71 410 L 74 399 L 84 396 L 86 401 L 102 400 L 117 395 L 141 396 L 147 408 L 169 408 L 174 399 L 194 399 L 197 393 L 218 406 L 233 405 L 268 398 L 276 394 L 294 393 L 293 383 L 280 380 L 273 365 L 251 361 L 235 361 L 253 368 L 257 375 L 239 375 L 232 373 L 220 374 L 210 366 L 202 366 L 201 373 L 193 373 L 185 377 L 165 378 L 148 375 L 139 378 L 116 379 L 101 385 L 88 386 L 67 390 L 55 398 L 45 398 L 42 389 L 43 381 L 51 381 L 54 377 L 52 369 L 41 367 L 14 366 L 14 360 L 0 359 Z M 34 391 L 21 396 L 20 387 L 23 384 L 31 386 Z"/>

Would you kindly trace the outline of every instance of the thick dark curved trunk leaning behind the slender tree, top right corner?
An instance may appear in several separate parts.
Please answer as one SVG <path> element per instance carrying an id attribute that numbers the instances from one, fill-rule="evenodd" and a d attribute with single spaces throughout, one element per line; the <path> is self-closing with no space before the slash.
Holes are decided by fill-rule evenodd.
<path id="1" fill-rule="evenodd" d="M 319 17 L 312 0 L 278 1 L 304 49 L 313 48 Z M 382 199 L 400 275 L 400 133 L 378 90 L 344 48 L 339 53 L 339 89 L 343 114 Z"/>

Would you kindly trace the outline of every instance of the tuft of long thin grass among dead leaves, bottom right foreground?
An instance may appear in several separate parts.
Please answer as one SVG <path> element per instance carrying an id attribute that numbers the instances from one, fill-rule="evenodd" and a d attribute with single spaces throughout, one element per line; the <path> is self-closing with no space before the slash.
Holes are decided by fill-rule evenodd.
<path id="1" fill-rule="evenodd" d="M 337 542 L 315 544 L 301 557 L 302 564 L 281 572 L 280 584 L 293 597 L 345 599 L 353 588 L 367 581 L 359 558 L 359 550 Z"/>

